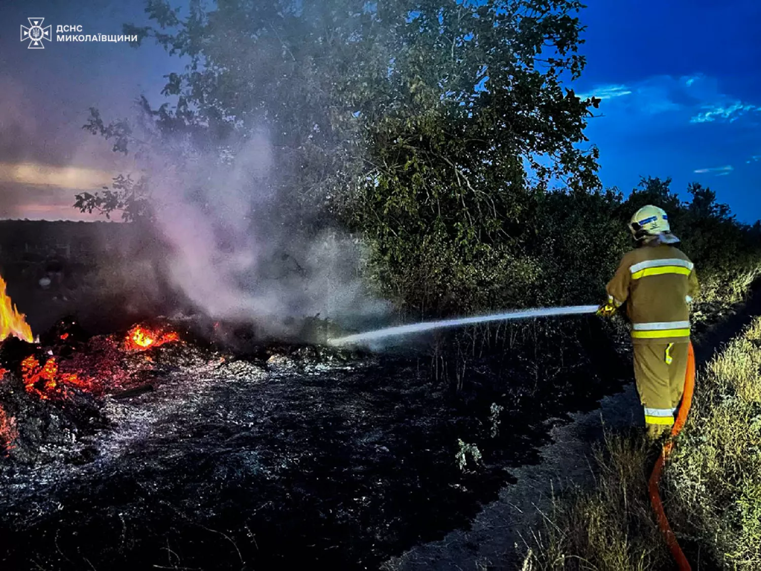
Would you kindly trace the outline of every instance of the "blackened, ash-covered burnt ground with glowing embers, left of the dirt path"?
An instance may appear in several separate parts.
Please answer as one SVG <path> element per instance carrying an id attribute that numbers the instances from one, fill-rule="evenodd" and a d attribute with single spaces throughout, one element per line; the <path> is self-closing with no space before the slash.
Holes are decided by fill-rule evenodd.
<path id="1" fill-rule="evenodd" d="M 2 346 L 3 569 L 377 569 L 466 527 L 549 419 L 621 386 L 585 318 L 561 341 L 517 328 L 537 354 L 485 361 L 459 391 L 411 355 L 231 351 L 181 329 L 126 349 L 129 333 L 75 327 Z M 481 459 L 460 467 L 460 441 Z"/>

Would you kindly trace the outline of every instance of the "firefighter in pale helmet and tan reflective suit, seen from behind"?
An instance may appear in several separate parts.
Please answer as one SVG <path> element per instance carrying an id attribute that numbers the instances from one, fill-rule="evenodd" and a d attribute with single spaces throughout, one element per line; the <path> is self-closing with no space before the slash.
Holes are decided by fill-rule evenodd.
<path id="1" fill-rule="evenodd" d="M 677 248 L 668 216 L 657 206 L 639 209 L 629 229 L 636 247 L 607 285 L 610 317 L 626 304 L 632 322 L 634 373 L 648 437 L 670 432 L 682 398 L 689 349 L 689 308 L 699 291 L 695 267 Z"/>

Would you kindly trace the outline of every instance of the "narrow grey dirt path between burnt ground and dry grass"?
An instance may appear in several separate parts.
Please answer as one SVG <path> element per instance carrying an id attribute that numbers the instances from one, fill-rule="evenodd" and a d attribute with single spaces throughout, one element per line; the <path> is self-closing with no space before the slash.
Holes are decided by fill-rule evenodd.
<path id="1" fill-rule="evenodd" d="M 705 364 L 724 343 L 736 336 L 761 314 L 761 289 L 708 330 L 696 342 L 698 367 Z M 571 423 L 549 432 L 552 443 L 540 450 L 539 464 L 511 470 L 517 482 L 500 490 L 499 498 L 484 506 L 470 529 L 458 529 L 441 541 L 419 545 L 384 564 L 388 571 L 492 571 L 520 569 L 527 534 L 540 528 L 543 513 L 552 509 L 552 494 L 568 486 L 593 486 L 592 448 L 603 438 L 603 429 L 625 429 L 642 423 L 642 409 L 634 384 L 604 397 L 600 408 L 570 415 Z"/>

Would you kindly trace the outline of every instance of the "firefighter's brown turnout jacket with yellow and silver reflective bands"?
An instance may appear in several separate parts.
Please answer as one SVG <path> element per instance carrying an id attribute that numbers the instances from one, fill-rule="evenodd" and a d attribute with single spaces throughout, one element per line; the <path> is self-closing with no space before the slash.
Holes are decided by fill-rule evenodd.
<path id="1" fill-rule="evenodd" d="M 689 303 L 699 292 L 695 267 L 677 247 L 657 243 L 626 254 L 607 285 L 610 301 L 626 303 L 634 343 L 689 341 Z"/>

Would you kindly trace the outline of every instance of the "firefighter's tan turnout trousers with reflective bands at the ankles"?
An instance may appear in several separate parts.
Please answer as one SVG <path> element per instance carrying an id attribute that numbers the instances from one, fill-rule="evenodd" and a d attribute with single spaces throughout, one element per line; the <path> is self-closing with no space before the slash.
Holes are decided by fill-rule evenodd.
<path id="1" fill-rule="evenodd" d="M 657 438 L 673 426 L 687 372 L 689 337 L 678 343 L 635 343 L 634 376 L 648 436 Z"/>

